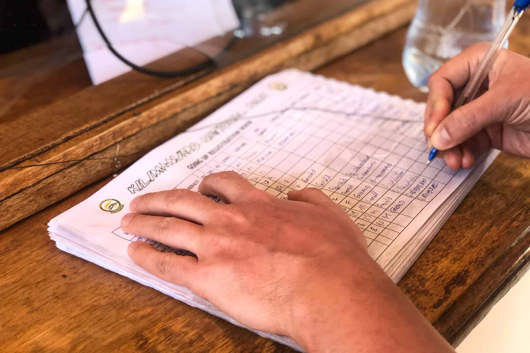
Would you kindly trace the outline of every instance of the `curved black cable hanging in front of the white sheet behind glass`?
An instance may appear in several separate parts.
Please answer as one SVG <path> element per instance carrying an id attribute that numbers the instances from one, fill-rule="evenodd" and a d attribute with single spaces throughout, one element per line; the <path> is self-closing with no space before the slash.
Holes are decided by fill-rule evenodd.
<path id="1" fill-rule="evenodd" d="M 121 56 L 121 54 L 116 49 L 114 49 L 114 47 L 112 46 L 112 43 L 107 38 L 107 35 L 105 35 L 105 33 L 103 32 L 103 29 L 101 28 L 101 25 L 100 25 L 98 19 L 96 18 L 96 15 L 95 15 L 94 10 L 92 8 L 91 0 L 85 0 L 85 2 L 86 2 L 86 10 L 88 10 L 88 12 L 90 13 L 90 16 L 92 17 L 92 21 L 94 21 L 94 25 L 96 26 L 96 29 L 98 30 L 98 32 L 101 35 L 101 38 L 103 39 L 105 44 L 107 44 L 107 48 L 109 48 L 109 50 L 118 59 L 120 59 L 124 64 L 126 64 L 127 66 L 129 66 L 129 67 L 131 67 L 131 68 L 133 68 L 133 69 L 135 69 L 137 71 L 139 71 L 140 73 L 144 73 L 144 74 L 152 75 L 152 76 L 159 76 L 159 77 L 179 77 L 179 76 L 187 76 L 187 75 L 195 74 L 195 73 L 198 73 L 199 71 L 207 69 L 209 67 L 214 67 L 214 68 L 218 67 L 217 62 L 214 59 L 208 57 L 207 55 L 205 55 L 204 53 L 200 52 L 196 48 L 191 48 L 191 47 L 187 47 L 187 46 L 185 46 L 185 47 L 200 52 L 201 55 L 204 55 L 207 59 L 205 61 L 201 62 L 200 64 L 194 66 L 194 67 L 191 67 L 191 68 L 188 68 L 188 69 L 184 69 L 184 70 L 175 70 L 175 71 L 158 71 L 158 70 L 151 70 L 151 69 L 147 69 L 147 68 L 138 66 L 138 65 L 134 64 L 133 62 L 130 62 L 129 60 L 127 60 L 125 57 Z M 223 50 L 217 55 L 217 58 L 222 56 L 229 48 L 231 48 L 236 39 L 237 39 L 237 37 L 235 37 L 235 35 L 233 35 L 232 39 L 228 42 L 226 47 L 223 48 Z"/>

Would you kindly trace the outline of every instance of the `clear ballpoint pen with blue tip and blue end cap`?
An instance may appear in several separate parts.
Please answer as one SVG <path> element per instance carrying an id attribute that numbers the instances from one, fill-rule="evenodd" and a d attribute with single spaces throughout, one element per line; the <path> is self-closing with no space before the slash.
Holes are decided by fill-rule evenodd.
<path id="1" fill-rule="evenodd" d="M 519 21 L 519 18 L 523 15 L 526 8 L 529 6 L 530 0 L 515 1 L 514 6 L 511 8 L 508 17 L 506 17 L 506 21 L 504 22 L 504 24 L 502 24 L 499 33 L 497 33 L 495 39 L 493 39 L 493 42 L 491 43 L 490 48 L 482 58 L 482 61 L 479 65 L 479 69 L 476 71 L 475 75 L 471 77 L 469 82 L 467 82 L 467 85 L 462 91 L 462 94 L 460 95 L 460 97 L 458 97 L 456 103 L 453 105 L 452 111 L 456 110 L 456 108 L 466 103 L 471 102 L 475 98 L 479 87 L 484 82 L 486 76 L 488 76 L 491 67 L 497 59 L 501 48 L 504 47 L 504 44 L 508 40 L 511 31 L 513 31 L 515 25 Z M 432 147 L 429 152 L 429 160 L 427 161 L 427 164 L 429 164 L 436 157 L 436 153 L 438 153 L 438 150 L 435 147 Z"/>

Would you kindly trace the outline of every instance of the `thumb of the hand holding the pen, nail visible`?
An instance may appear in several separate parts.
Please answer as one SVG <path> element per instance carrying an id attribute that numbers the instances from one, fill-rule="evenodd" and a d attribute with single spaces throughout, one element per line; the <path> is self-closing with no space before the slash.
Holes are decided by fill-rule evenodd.
<path id="1" fill-rule="evenodd" d="M 440 122 L 432 133 L 431 143 L 438 150 L 458 146 L 483 130 L 488 125 L 501 122 L 508 116 L 502 102 L 491 90 L 479 98 L 457 108 Z"/>

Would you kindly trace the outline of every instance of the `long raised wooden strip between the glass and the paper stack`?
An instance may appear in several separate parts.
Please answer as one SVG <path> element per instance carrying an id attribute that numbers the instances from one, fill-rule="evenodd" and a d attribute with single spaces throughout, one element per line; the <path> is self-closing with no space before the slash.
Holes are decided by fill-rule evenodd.
<path id="1" fill-rule="evenodd" d="M 289 67 L 313 70 L 398 28 L 410 20 L 415 5 L 412 0 L 369 2 L 235 65 L 185 86 L 179 82 L 175 85 L 181 87 L 173 87 L 163 96 L 136 102 L 119 114 L 100 119 L 97 124 L 72 127 L 83 132 L 60 138 L 57 140 L 60 143 L 51 148 L 43 147 L 39 155 L 11 166 L 15 169 L 0 171 L 0 229 L 114 173 L 260 78 Z M 90 95 L 86 98 L 91 99 Z M 49 113 L 68 116 L 70 107 L 54 105 Z M 154 128 L 161 122 L 166 128 L 162 132 Z M 19 129 L 31 131 L 30 126 L 24 124 Z M 151 132 L 139 134 L 145 130 Z M 3 143 L 5 141 L 0 141 Z M 93 169 L 89 173 L 75 174 L 68 170 L 86 159 L 99 160 L 101 164 L 95 166 L 90 162 Z M 117 161 L 118 167 L 110 160 Z M 43 194 L 48 189 L 53 189 L 53 197 L 48 195 L 50 192 Z M 16 212 L 6 212 L 8 210 Z"/>

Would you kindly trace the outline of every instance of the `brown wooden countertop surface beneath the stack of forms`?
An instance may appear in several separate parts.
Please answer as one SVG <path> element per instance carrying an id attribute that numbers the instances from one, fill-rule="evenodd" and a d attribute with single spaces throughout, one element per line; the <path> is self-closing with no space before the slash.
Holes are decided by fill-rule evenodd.
<path id="1" fill-rule="evenodd" d="M 526 21 L 510 40 L 525 56 L 528 33 Z M 425 100 L 402 72 L 404 35 L 402 28 L 316 72 Z M 59 251 L 48 220 L 109 180 L 0 233 L 3 351 L 292 351 Z M 530 161 L 501 154 L 399 283 L 453 344 L 530 264 L 529 191 Z"/>

